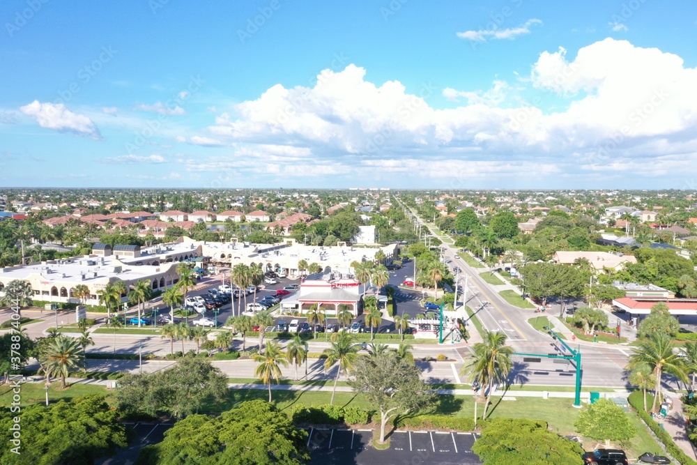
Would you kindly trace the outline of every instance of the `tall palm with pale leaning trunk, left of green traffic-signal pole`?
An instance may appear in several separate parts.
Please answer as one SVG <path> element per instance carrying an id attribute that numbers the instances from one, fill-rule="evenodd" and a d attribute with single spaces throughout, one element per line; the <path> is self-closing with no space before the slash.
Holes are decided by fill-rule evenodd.
<path id="1" fill-rule="evenodd" d="M 468 375 L 471 382 L 480 382 L 482 395 L 484 395 L 484 386 L 487 386 L 487 402 L 484 404 L 482 420 L 487 419 L 487 408 L 491 400 L 493 384 L 507 382 L 508 374 L 513 366 L 511 357 L 514 349 L 506 345 L 506 339 L 505 334 L 484 331 L 482 342 L 477 342 L 473 346 L 474 354 L 470 363 L 462 367 L 463 372 Z"/>

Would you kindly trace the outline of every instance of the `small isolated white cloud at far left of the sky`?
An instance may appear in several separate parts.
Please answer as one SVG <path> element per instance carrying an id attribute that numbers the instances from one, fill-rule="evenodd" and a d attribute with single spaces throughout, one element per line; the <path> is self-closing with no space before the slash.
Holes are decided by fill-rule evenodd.
<path id="1" fill-rule="evenodd" d="M 39 102 L 20 107 L 20 111 L 36 120 L 42 128 L 59 132 L 72 132 L 75 135 L 101 140 L 97 125 L 88 116 L 71 112 L 62 103 Z"/>

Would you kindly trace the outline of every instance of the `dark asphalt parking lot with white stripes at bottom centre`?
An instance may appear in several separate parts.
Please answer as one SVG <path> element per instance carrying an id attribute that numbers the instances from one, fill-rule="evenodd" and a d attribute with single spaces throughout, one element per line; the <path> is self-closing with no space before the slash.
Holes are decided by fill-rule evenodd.
<path id="1" fill-rule="evenodd" d="M 390 436 L 389 450 L 368 445 L 371 430 L 308 429 L 310 464 L 481 464 L 472 452 L 475 436 L 455 432 L 396 431 Z"/>

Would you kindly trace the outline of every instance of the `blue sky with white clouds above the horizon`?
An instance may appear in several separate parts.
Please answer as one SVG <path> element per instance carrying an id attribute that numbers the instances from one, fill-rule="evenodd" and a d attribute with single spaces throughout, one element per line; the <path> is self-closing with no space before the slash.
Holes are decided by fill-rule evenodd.
<path id="1" fill-rule="evenodd" d="M 6 1 L 0 185 L 697 190 L 697 6 Z"/>

